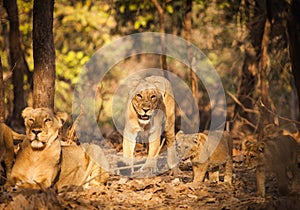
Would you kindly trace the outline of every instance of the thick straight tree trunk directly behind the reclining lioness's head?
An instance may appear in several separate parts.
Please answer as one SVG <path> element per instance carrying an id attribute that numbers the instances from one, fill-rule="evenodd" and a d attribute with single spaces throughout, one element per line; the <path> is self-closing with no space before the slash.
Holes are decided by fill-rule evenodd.
<path id="1" fill-rule="evenodd" d="M 33 106 L 54 109 L 55 50 L 54 0 L 34 0 L 33 6 Z"/>

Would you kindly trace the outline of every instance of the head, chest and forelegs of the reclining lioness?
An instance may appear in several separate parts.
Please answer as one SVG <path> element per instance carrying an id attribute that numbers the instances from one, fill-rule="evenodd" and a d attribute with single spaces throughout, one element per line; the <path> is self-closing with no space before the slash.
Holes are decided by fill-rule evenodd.
<path id="1" fill-rule="evenodd" d="M 23 140 L 12 169 L 12 185 L 48 188 L 60 170 L 61 146 L 58 130 L 65 115 L 48 108 L 23 110 L 26 138 Z"/>

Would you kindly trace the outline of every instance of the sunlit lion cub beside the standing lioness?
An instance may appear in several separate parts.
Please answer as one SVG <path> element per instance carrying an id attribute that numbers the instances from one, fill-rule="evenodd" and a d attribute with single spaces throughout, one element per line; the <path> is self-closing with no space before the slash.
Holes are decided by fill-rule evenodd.
<path id="1" fill-rule="evenodd" d="M 221 135 L 221 133 L 220 133 Z M 211 153 L 211 155 L 202 161 L 202 155 L 206 155 L 211 142 L 217 141 L 216 136 L 207 138 L 204 133 L 196 134 L 184 134 L 179 131 L 176 134 L 176 140 L 178 142 L 178 148 L 180 154 L 183 155 L 182 160 L 190 159 L 192 162 L 194 172 L 194 182 L 202 182 L 205 179 L 207 172 L 209 173 L 209 180 L 218 182 L 219 173 L 218 170 L 221 166 L 225 166 L 224 182 L 232 182 L 232 139 L 228 132 L 224 132 L 220 142 Z M 208 140 L 208 141 L 207 141 Z M 207 154 L 209 155 L 209 154 Z M 213 172 L 215 171 L 215 172 Z"/>

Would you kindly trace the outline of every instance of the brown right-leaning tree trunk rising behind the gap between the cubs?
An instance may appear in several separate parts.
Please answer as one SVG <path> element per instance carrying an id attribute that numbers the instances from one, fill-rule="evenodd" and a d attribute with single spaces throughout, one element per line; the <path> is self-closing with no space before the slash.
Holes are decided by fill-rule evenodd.
<path id="1" fill-rule="evenodd" d="M 245 6 L 246 8 L 244 8 L 249 14 L 249 43 L 245 44 L 245 59 L 237 90 L 237 100 L 240 104 L 235 106 L 232 126 L 232 130 L 244 133 L 256 131 L 259 123 L 258 118 L 260 116 L 253 111 L 255 101 L 253 97 L 259 73 L 258 67 L 266 18 L 265 5 L 260 0 L 251 1 L 251 3 L 251 7 Z"/>

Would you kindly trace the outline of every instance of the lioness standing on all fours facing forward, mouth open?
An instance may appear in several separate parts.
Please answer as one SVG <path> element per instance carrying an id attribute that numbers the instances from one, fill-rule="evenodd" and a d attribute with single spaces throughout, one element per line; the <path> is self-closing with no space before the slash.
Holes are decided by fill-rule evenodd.
<path id="1" fill-rule="evenodd" d="M 169 168 L 177 165 L 175 148 L 175 102 L 170 82 L 161 76 L 136 79 L 130 83 L 127 100 L 123 154 L 132 159 L 137 138 L 149 143 L 148 158 L 142 169 L 156 168 L 160 137 L 165 131 Z"/>

